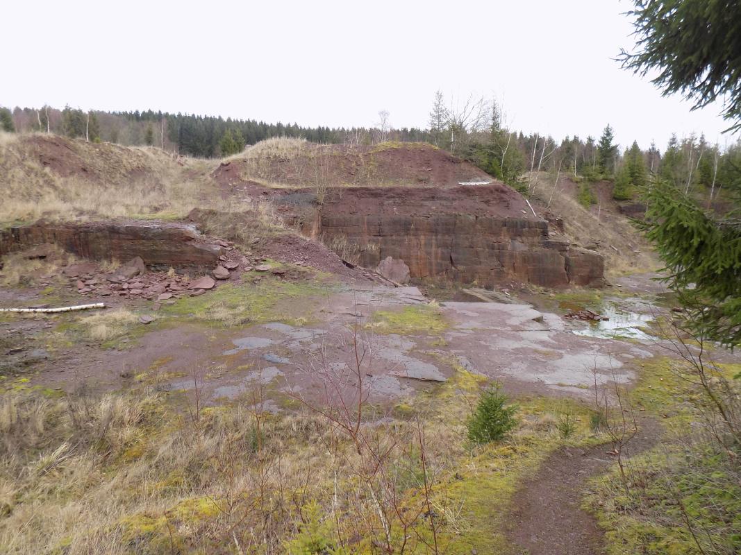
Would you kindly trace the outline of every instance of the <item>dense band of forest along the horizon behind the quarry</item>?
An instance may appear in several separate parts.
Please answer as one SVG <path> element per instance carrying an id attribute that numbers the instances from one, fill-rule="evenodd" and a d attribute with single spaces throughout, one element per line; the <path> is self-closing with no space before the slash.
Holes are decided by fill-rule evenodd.
<path id="1" fill-rule="evenodd" d="M 299 127 L 264 121 L 224 119 L 216 116 L 167 112 L 83 112 L 69 106 L 57 110 L 0 108 L 0 128 L 7 132 L 56 132 L 88 141 L 124 145 L 153 145 L 170 152 L 213 158 L 241 152 L 245 146 L 276 136 L 302 137 L 324 144 L 374 144 L 382 141 L 425 141 L 473 162 L 496 178 L 523 189 L 528 171 L 571 174 L 582 183 L 579 201 L 596 202 L 590 183 L 614 180 L 614 196 L 629 201 L 657 175 L 699 195 L 708 203 L 724 189 L 741 186 L 741 143 L 720 147 L 704 135 L 678 138 L 663 149 L 633 142 L 619 145 L 614 130 L 606 126 L 599 138 L 577 135 L 556 141 L 551 136 L 508 129 L 495 101 L 468 98 L 448 107 L 441 92 L 433 99 L 427 129 L 391 127 L 388 112 L 379 112 L 379 124 L 364 127 Z"/>

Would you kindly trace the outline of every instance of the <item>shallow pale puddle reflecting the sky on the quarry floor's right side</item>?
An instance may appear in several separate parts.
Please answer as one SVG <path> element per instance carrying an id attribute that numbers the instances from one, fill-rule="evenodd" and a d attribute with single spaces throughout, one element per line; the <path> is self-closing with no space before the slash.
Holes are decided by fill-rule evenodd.
<path id="1" fill-rule="evenodd" d="M 582 337 L 597 337 L 600 339 L 638 339 L 653 340 L 654 336 L 646 333 L 641 328 L 647 323 L 654 320 L 654 315 L 646 312 L 635 312 L 631 310 L 631 304 L 636 308 L 648 309 L 651 306 L 642 300 L 626 300 L 623 303 L 606 302 L 594 308 L 600 316 L 607 317 L 608 320 L 599 320 L 598 322 L 585 321 L 585 329 L 574 329 L 572 333 Z M 577 307 L 572 303 L 560 303 L 559 307 L 571 311 L 584 309 L 583 306 Z"/>

